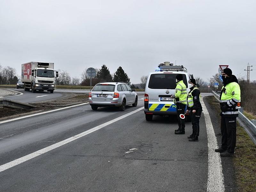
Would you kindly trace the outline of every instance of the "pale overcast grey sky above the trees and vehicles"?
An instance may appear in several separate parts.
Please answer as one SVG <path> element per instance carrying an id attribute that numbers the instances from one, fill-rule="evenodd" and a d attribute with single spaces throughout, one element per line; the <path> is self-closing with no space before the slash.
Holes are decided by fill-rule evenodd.
<path id="1" fill-rule="evenodd" d="M 54 62 L 80 77 L 84 68 L 119 66 L 139 83 L 159 63 L 184 65 L 209 79 L 219 65 L 256 79 L 256 2 L 0 0 L 0 63 L 17 69 Z"/>

